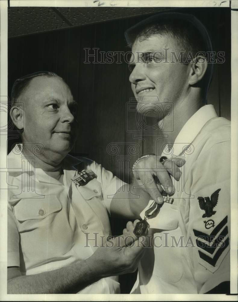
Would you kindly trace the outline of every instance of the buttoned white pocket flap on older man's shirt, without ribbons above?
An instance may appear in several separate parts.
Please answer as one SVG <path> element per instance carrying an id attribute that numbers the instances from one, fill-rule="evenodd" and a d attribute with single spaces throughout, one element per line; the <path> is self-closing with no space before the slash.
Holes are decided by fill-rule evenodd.
<path id="1" fill-rule="evenodd" d="M 45 195 L 44 198 L 21 199 L 14 207 L 14 214 L 18 221 L 44 219 L 61 209 L 62 205 L 56 195 Z"/>

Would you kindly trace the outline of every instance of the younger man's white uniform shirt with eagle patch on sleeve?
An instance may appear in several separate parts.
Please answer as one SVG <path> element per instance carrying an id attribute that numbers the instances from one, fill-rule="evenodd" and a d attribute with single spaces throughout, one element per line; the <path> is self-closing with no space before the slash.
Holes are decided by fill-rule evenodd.
<path id="1" fill-rule="evenodd" d="M 180 181 L 173 179 L 174 203 L 163 204 L 157 228 L 149 230 L 155 244 L 131 292 L 206 293 L 230 280 L 230 121 L 203 106 L 162 155 L 186 163 Z"/>

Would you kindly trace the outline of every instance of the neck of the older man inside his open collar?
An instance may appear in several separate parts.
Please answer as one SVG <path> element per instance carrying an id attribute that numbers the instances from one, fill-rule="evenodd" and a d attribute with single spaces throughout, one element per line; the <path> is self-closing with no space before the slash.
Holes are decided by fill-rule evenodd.
<path id="1" fill-rule="evenodd" d="M 35 168 L 40 168 L 45 172 L 61 171 L 64 155 L 45 150 L 42 154 L 37 155 L 27 148 L 27 144 L 23 143 L 25 157 L 33 156 L 35 159 Z"/>

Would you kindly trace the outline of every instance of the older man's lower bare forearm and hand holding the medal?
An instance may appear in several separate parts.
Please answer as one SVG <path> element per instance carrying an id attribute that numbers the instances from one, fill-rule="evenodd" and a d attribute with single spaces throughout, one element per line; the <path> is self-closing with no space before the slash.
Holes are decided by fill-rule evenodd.
<path id="1" fill-rule="evenodd" d="M 8 294 L 77 293 L 101 278 L 135 271 L 148 243 L 146 237 L 133 234 L 134 225 L 129 221 L 122 236 L 108 240 L 83 261 L 35 275 L 8 268 Z"/>

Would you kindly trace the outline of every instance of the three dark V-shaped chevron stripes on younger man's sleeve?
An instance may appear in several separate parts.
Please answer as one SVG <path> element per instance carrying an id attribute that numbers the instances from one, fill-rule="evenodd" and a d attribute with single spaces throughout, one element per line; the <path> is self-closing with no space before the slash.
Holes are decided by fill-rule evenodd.
<path id="1" fill-rule="evenodd" d="M 196 245 L 199 248 L 198 253 L 200 259 L 209 263 L 213 267 L 215 267 L 218 259 L 220 258 L 224 250 L 229 246 L 228 227 L 226 226 L 227 219 L 228 216 L 226 216 L 212 230 L 210 235 L 199 230 L 193 230 L 194 235 L 197 237 Z M 200 239 L 202 239 L 202 241 Z M 207 253 L 211 256 L 207 255 Z"/>

